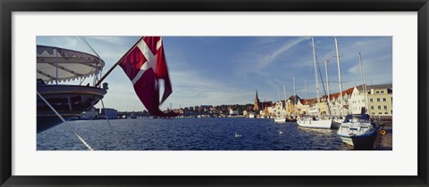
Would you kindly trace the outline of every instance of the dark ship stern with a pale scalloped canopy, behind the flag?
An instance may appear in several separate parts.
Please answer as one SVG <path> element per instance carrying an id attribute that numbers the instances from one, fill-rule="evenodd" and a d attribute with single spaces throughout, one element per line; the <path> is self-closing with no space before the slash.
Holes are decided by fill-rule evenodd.
<path id="1" fill-rule="evenodd" d="M 37 133 L 79 117 L 103 99 L 104 88 L 94 85 L 59 85 L 84 80 L 103 69 L 99 57 L 56 46 L 37 45 Z M 61 117 L 60 117 L 61 116 Z"/>

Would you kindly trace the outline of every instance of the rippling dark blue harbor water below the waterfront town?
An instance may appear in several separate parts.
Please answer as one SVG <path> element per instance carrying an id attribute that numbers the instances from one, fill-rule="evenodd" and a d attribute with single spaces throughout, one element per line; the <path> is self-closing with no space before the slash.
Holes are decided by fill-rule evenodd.
<path id="1" fill-rule="evenodd" d="M 37 149 L 87 150 L 76 129 L 94 150 L 353 150 L 335 129 L 268 118 L 130 118 L 110 120 L 111 127 L 106 120 L 68 123 L 37 134 Z"/>

